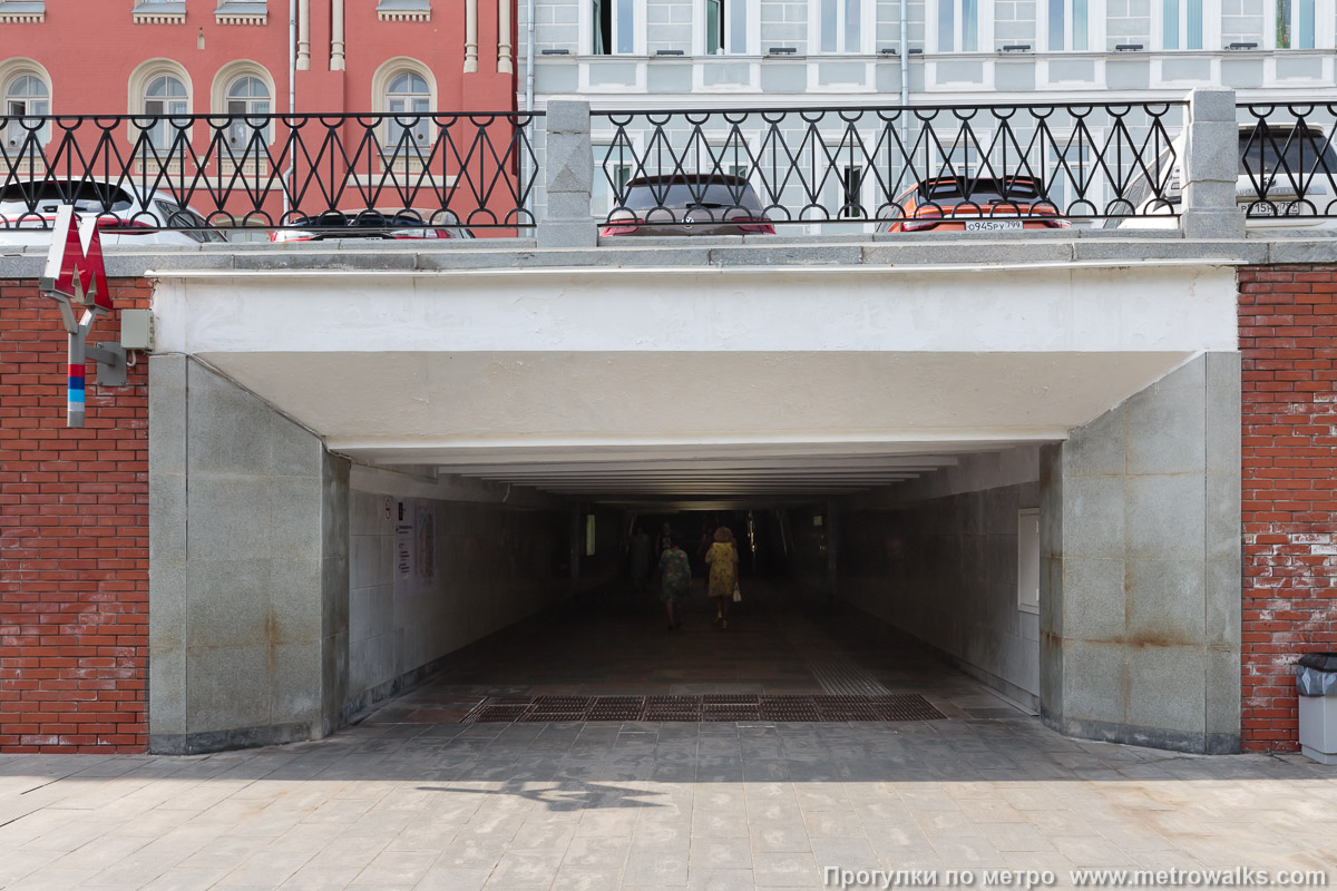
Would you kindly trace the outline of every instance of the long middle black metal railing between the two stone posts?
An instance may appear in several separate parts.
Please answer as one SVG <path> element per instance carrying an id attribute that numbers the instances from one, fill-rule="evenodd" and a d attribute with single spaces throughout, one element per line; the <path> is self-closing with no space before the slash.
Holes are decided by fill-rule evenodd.
<path id="1" fill-rule="evenodd" d="M 595 212 L 743 231 L 1174 218 L 1185 115 L 1182 102 L 602 111 Z"/>

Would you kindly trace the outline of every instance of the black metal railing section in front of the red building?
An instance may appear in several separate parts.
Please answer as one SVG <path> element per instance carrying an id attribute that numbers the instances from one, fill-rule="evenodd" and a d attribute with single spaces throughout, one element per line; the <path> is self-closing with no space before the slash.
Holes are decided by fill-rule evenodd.
<path id="1" fill-rule="evenodd" d="M 0 116 L 0 228 L 524 230 L 532 114 Z"/>

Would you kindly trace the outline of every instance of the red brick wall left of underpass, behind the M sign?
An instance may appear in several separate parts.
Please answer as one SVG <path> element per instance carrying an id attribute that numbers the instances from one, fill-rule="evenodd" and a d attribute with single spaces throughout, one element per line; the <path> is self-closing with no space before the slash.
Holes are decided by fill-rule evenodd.
<path id="1" fill-rule="evenodd" d="M 112 285 L 116 309 L 147 309 L 147 282 Z M 143 752 L 148 363 L 116 389 L 90 363 L 74 430 L 66 357 L 56 305 L 0 281 L 0 751 Z"/>

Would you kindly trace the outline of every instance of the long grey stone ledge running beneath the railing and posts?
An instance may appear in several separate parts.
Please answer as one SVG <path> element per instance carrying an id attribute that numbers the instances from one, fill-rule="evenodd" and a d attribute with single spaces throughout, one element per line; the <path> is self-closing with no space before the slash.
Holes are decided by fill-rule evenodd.
<path id="1" fill-rule="evenodd" d="M 618 243 L 612 243 L 618 242 Z M 533 239 L 488 238 L 444 240 L 422 247 L 402 242 L 326 240 L 293 244 L 239 242 L 191 246 L 108 246 L 108 274 L 139 277 L 227 277 L 234 274 L 286 275 L 348 274 L 396 275 L 489 271 L 584 270 L 600 277 L 616 270 L 693 271 L 714 269 L 866 269 L 866 270 L 989 270 L 1074 266 L 1238 266 L 1266 263 L 1337 263 L 1337 235 L 1269 236 L 1251 234 L 1242 240 L 1163 238 L 1107 232 L 1066 239 L 1001 239 L 943 234 L 936 239 L 869 239 L 849 236 L 804 238 L 685 238 L 606 239 L 590 248 L 537 248 Z M 0 278 L 35 278 L 45 262 L 45 248 L 0 244 Z M 1039 266 L 1038 266 L 1039 264 Z"/>

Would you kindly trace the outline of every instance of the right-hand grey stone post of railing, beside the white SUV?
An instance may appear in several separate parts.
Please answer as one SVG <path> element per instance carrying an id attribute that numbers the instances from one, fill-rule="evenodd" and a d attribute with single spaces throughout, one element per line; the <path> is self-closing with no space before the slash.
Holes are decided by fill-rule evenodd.
<path id="1" fill-rule="evenodd" d="M 1181 167 L 1181 226 L 1185 236 L 1242 239 L 1245 215 L 1235 203 L 1235 178 L 1239 174 L 1235 91 L 1191 91 L 1186 130 Z"/>

